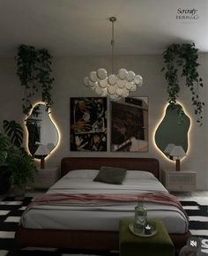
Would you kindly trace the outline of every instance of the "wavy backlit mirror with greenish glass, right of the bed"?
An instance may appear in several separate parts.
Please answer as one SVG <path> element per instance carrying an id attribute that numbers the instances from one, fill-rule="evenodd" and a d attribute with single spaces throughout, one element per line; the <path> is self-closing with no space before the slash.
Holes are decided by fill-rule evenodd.
<path id="1" fill-rule="evenodd" d="M 180 116 L 178 111 L 182 111 Z M 165 149 L 168 144 L 182 146 L 185 153 L 188 150 L 188 135 L 189 135 L 190 119 L 182 109 L 182 105 L 177 104 L 174 108 L 172 105 L 167 105 L 165 116 L 159 124 L 155 132 L 155 143 L 160 151 L 168 155 Z"/>

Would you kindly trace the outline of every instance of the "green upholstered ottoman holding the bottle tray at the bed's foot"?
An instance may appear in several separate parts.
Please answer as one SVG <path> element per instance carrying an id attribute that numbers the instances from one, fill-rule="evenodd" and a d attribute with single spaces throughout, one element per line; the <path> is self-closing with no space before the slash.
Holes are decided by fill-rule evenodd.
<path id="1" fill-rule="evenodd" d="M 167 233 L 163 222 L 148 220 L 156 227 L 157 234 L 152 237 L 138 237 L 134 235 L 129 224 L 130 219 L 119 222 L 119 251 L 120 256 L 174 256 L 175 248 Z"/>

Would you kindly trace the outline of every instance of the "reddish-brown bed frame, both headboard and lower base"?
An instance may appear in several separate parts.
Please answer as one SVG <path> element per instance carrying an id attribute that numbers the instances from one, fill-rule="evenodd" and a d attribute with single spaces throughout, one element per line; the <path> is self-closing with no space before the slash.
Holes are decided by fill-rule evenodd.
<path id="1" fill-rule="evenodd" d="M 151 171 L 159 178 L 160 165 L 154 158 L 91 158 L 65 157 L 61 162 L 61 177 L 72 169 L 100 169 L 100 166 L 123 167 Z M 179 251 L 190 237 L 185 234 L 169 234 L 175 251 Z M 19 226 L 16 241 L 24 247 L 56 247 L 87 250 L 118 250 L 118 231 L 94 230 L 31 230 Z"/>

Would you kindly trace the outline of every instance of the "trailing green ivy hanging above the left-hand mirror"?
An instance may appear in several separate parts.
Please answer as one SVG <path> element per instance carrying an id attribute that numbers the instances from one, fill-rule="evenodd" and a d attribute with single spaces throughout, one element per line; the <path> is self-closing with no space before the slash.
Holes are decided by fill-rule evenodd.
<path id="1" fill-rule="evenodd" d="M 21 86 L 25 87 L 22 98 L 23 113 L 28 115 L 32 98 L 41 91 L 41 100 L 46 102 L 47 110 L 53 105 L 50 91 L 54 79 L 51 78 L 52 56 L 47 49 L 34 49 L 33 46 L 20 45 L 16 56 L 17 75 Z"/>

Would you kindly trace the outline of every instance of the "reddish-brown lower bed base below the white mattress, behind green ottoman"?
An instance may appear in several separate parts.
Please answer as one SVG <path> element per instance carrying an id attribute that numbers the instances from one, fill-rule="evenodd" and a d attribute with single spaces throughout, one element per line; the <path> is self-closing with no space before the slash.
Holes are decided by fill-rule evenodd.
<path id="1" fill-rule="evenodd" d="M 175 251 L 186 245 L 191 236 L 185 234 L 169 234 Z M 54 247 L 67 249 L 86 250 L 118 250 L 119 234 L 117 231 L 92 231 L 92 230 L 31 230 L 19 226 L 16 232 L 16 241 L 19 248 L 26 247 Z"/>

